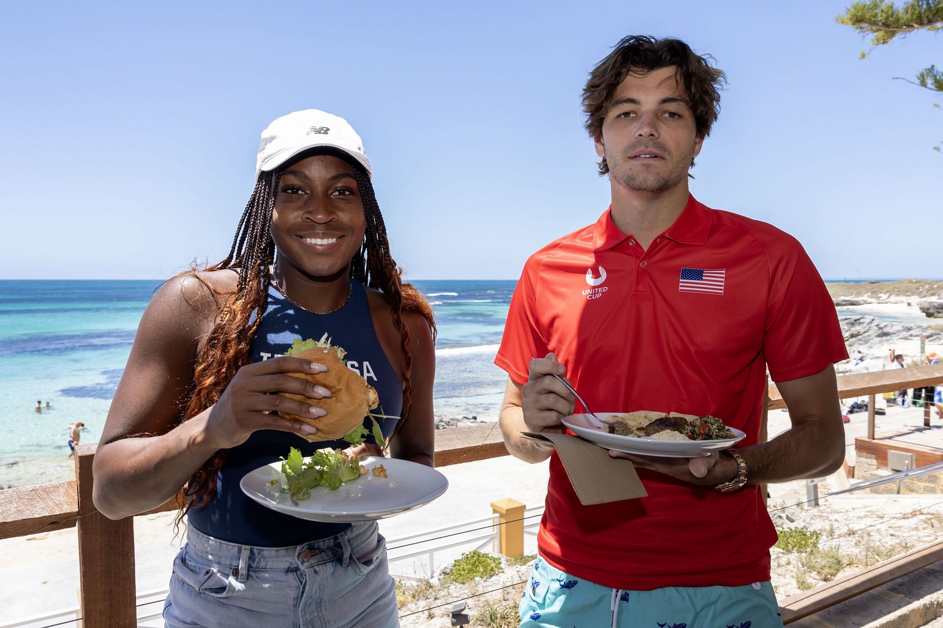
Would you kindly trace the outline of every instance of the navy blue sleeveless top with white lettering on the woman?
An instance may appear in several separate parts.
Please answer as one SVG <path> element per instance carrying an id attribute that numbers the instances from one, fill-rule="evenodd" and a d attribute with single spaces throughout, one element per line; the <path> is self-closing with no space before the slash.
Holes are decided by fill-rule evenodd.
<path id="1" fill-rule="evenodd" d="M 292 304 L 274 287 L 269 288 L 268 309 L 252 341 L 253 362 L 283 355 L 296 338 L 319 340 L 324 332 L 334 346 L 347 351 L 347 367 L 367 379 L 380 397 L 383 414 L 399 416 L 403 408 L 403 386 L 387 359 L 373 329 L 370 303 L 363 284 L 351 280 L 351 296 L 337 312 L 314 314 Z M 317 402 L 315 402 L 317 405 Z M 371 419 L 364 425 L 371 427 Z M 378 419 L 389 438 L 397 419 Z M 375 444 L 373 437 L 368 443 Z M 243 493 L 243 475 L 278 460 L 288 458 L 290 447 L 311 456 L 323 447 L 348 447 L 344 441 L 308 443 L 302 437 L 274 429 L 253 432 L 249 439 L 226 452 L 216 482 L 216 492 L 202 507 L 190 508 L 188 522 L 201 532 L 240 545 L 285 547 L 309 540 L 326 539 L 350 527 L 349 523 L 309 522 L 256 504 Z M 320 489 L 319 489 L 320 490 Z M 324 489 L 327 491 L 327 489 Z M 315 499 L 312 495 L 310 499 Z"/>

